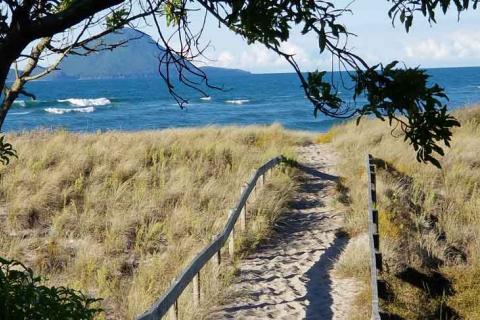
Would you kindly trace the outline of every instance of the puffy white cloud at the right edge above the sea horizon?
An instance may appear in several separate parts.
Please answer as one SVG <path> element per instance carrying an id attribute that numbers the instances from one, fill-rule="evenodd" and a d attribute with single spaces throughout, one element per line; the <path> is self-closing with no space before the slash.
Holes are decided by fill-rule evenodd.
<path id="1" fill-rule="evenodd" d="M 480 34 L 470 31 L 457 31 L 441 38 L 417 40 L 405 47 L 411 60 L 433 64 L 471 64 L 480 59 Z M 461 61 L 459 61 L 461 59 Z"/>

